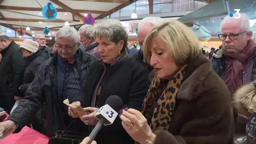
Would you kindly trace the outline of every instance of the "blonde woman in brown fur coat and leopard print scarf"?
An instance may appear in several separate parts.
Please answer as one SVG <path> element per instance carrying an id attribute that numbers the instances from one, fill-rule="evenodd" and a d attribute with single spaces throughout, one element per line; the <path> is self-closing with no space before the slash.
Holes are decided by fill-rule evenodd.
<path id="1" fill-rule="evenodd" d="M 120 110 L 125 131 L 140 144 L 233 144 L 229 91 L 193 32 L 165 22 L 143 45 L 156 76 L 141 112 Z"/>

